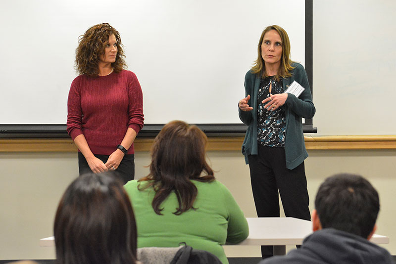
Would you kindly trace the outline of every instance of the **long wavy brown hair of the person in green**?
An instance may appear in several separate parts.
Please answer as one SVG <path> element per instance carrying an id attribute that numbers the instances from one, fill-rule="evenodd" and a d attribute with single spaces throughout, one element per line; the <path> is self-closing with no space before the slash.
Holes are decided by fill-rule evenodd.
<path id="1" fill-rule="evenodd" d="M 174 214 L 194 209 L 198 190 L 191 180 L 211 182 L 215 179 L 206 162 L 206 143 L 207 137 L 202 130 L 183 121 L 167 123 L 155 137 L 150 173 L 139 180 L 138 188 L 154 189 L 151 205 L 156 214 L 162 214 L 160 205 L 172 192 L 179 203 Z"/>

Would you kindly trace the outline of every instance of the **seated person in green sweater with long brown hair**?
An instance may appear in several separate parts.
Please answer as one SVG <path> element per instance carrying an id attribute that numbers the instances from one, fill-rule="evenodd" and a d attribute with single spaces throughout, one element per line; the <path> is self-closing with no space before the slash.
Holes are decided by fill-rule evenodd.
<path id="1" fill-rule="evenodd" d="M 138 228 L 138 248 L 178 247 L 216 255 L 247 238 L 244 213 L 206 162 L 205 134 L 183 121 L 166 124 L 154 140 L 148 176 L 124 187 Z"/>

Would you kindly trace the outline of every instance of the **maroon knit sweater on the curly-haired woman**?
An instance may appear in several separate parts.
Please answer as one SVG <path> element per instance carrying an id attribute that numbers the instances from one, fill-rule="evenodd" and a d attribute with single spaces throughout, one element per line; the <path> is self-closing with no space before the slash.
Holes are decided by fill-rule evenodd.
<path id="1" fill-rule="evenodd" d="M 143 95 L 135 73 L 122 70 L 107 76 L 76 77 L 67 100 L 67 133 L 84 134 L 92 153 L 110 155 L 128 127 L 143 127 Z M 133 144 L 127 154 L 133 154 Z"/>

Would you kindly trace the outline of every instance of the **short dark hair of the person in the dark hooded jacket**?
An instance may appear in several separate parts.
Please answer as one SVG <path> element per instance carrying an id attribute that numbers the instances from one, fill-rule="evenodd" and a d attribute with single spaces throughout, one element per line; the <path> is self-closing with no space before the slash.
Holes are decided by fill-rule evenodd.
<path id="1" fill-rule="evenodd" d="M 315 208 L 322 228 L 332 227 L 365 239 L 380 211 L 377 191 L 356 174 L 336 174 L 319 187 Z"/>

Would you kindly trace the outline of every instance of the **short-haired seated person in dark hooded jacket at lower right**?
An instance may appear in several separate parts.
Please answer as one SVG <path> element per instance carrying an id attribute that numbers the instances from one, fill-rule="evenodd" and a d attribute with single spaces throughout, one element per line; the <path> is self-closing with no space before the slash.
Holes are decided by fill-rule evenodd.
<path id="1" fill-rule="evenodd" d="M 260 264 L 387 264 L 389 252 L 369 240 L 380 211 L 377 191 L 363 177 L 337 174 L 319 187 L 312 212 L 314 233 L 301 248 Z"/>

